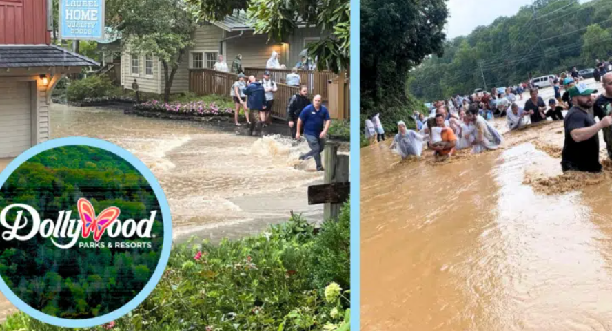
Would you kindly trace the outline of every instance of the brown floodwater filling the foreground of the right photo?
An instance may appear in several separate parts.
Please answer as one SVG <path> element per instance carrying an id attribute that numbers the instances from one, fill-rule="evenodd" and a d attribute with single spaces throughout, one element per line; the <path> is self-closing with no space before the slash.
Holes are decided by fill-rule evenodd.
<path id="1" fill-rule="evenodd" d="M 438 167 L 361 150 L 363 330 L 612 330 L 612 181 L 523 184 L 561 173 L 541 145 L 562 147 L 562 129 Z"/>

